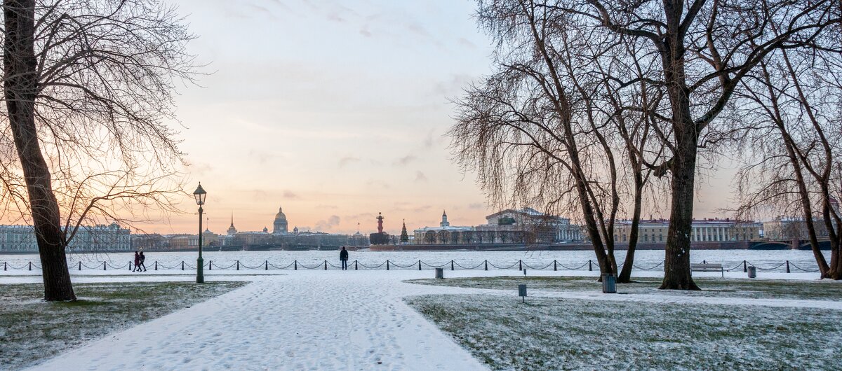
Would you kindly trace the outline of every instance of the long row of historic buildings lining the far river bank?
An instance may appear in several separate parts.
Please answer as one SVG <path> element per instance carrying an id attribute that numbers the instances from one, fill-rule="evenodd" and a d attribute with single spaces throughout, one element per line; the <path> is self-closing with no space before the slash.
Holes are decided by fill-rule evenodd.
<path id="1" fill-rule="evenodd" d="M 584 229 L 565 217 L 538 212 L 532 208 L 509 209 L 485 217 L 486 223 L 477 226 L 451 226 L 443 212 L 438 227 L 415 229 L 405 241 L 389 236 L 388 243 L 418 245 L 462 244 L 530 244 L 530 243 L 587 243 Z M 202 245 L 207 248 L 232 249 L 333 249 L 340 246 L 365 248 L 369 237 L 359 231 L 353 235 L 321 232 L 300 232 L 297 227 L 289 231 L 284 212 L 279 209 L 272 223 L 273 230 L 237 232 L 233 217 L 225 234 L 205 229 Z M 826 238 L 824 223 L 815 221 L 818 238 Z M 406 224 L 404 223 L 404 227 Z M 758 239 L 791 240 L 807 239 L 803 219 L 778 217 L 770 222 L 753 222 L 730 218 L 695 219 L 692 223 L 692 242 L 752 241 Z M 627 243 L 632 222 L 618 220 L 614 241 Z M 649 218 L 638 225 L 638 242 L 666 243 L 669 220 Z M 135 249 L 184 250 L 199 246 L 196 234 L 131 234 L 117 223 L 79 227 L 77 235 L 68 246 L 75 252 L 132 251 Z M 38 244 L 32 226 L 0 225 L 0 253 L 36 253 Z"/>

